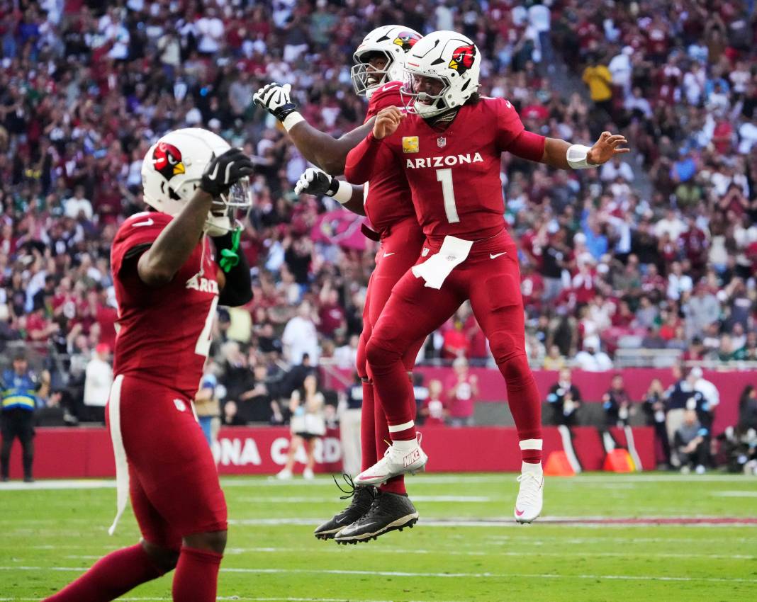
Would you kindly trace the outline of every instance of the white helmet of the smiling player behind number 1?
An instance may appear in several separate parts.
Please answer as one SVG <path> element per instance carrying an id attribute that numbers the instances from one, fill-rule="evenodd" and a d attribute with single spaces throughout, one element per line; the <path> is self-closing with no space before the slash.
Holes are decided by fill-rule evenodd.
<path id="1" fill-rule="evenodd" d="M 405 53 L 421 38 L 415 29 L 402 25 L 384 25 L 373 29 L 352 55 L 356 64 L 350 70 L 350 77 L 355 93 L 371 98 L 373 92 L 386 82 L 402 79 Z M 373 67 L 369 70 L 369 58 L 375 53 L 386 57 L 383 70 Z"/>

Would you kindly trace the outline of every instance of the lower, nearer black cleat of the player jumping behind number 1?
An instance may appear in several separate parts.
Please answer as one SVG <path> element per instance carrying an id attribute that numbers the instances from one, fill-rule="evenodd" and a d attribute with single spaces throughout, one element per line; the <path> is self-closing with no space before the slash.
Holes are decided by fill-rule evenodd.
<path id="1" fill-rule="evenodd" d="M 412 529 L 417 522 L 418 510 L 407 495 L 379 491 L 368 512 L 341 529 L 334 541 L 338 544 L 357 544 L 390 531 L 401 531 L 405 527 Z"/>

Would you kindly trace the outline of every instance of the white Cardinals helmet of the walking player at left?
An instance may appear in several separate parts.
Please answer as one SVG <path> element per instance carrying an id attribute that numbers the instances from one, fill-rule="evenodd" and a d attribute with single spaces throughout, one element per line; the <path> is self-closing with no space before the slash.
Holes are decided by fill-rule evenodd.
<path id="1" fill-rule="evenodd" d="M 219 135 L 201 128 L 175 129 L 153 144 L 142 160 L 145 203 L 175 216 L 200 185 L 205 166 L 231 146 Z M 213 199 L 205 232 L 220 236 L 240 227 L 236 213 L 252 206 L 249 178 L 242 178 L 229 192 Z"/>

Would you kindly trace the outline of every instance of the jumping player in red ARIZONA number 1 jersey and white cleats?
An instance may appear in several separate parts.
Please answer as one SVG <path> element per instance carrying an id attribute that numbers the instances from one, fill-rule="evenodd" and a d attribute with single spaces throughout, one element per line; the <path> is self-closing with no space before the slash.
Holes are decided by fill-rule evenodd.
<path id="1" fill-rule="evenodd" d="M 504 151 L 561 169 L 582 169 L 627 152 L 620 135 L 603 133 L 593 147 L 526 132 L 509 101 L 481 98 L 481 55 L 466 36 L 435 32 L 407 54 L 407 113 L 388 107 L 372 132 L 350 151 L 344 171 L 361 183 L 404 169 L 427 241 L 418 263 L 391 293 L 366 347 L 375 391 L 389 422 L 388 454 L 357 476 L 378 483 L 422 470 L 413 388 L 400 358 L 411 341 L 433 332 L 470 300 L 507 386 L 519 433 L 522 475 L 519 522 L 542 506 L 540 398 L 525 355 L 523 300 L 516 244 L 503 217 L 500 155 Z"/>

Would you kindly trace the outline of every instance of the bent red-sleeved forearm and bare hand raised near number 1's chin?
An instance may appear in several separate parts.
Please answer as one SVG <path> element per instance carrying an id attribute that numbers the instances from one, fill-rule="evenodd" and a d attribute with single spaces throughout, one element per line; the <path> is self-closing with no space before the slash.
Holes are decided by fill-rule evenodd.
<path id="1" fill-rule="evenodd" d="M 365 184 L 373 175 L 391 166 L 394 154 L 382 140 L 397 132 L 404 118 L 405 113 L 397 107 L 378 111 L 372 132 L 347 154 L 344 177 L 348 182 Z"/>

